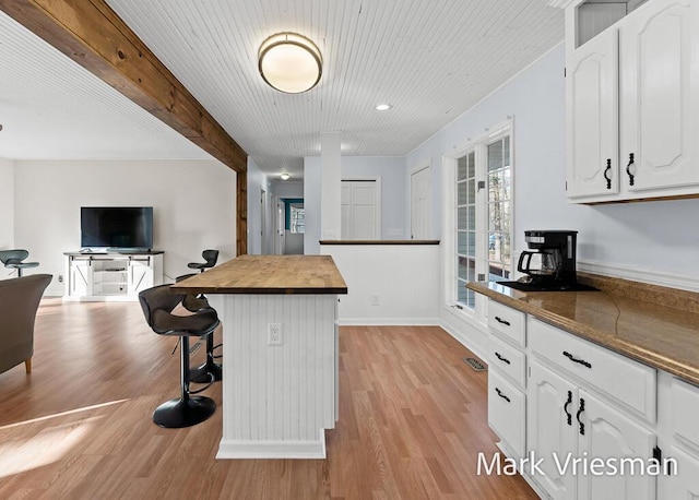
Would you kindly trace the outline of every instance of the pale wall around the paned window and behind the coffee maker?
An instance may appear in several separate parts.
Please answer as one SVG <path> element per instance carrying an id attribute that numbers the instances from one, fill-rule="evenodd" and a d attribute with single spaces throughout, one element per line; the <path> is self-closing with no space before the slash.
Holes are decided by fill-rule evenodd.
<path id="1" fill-rule="evenodd" d="M 699 199 L 599 206 L 568 203 L 564 66 L 560 46 L 405 158 L 406 166 L 431 162 L 434 227 L 441 227 L 445 210 L 451 210 L 441 203 L 442 184 L 451 189 L 450 181 L 442 182 L 442 155 L 511 116 L 514 252 L 525 249 L 526 229 L 577 229 L 578 257 L 589 270 L 664 284 L 668 284 L 667 278 L 671 283 L 684 281 L 696 287 L 699 231 L 695 230 L 695 219 Z M 442 227 L 441 236 L 445 230 L 451 228 Z M 445 259 L 450 258 L 450 249 L 445 248 L 443 254 Z M 451 279 L 445 275 L 442 278 Z M 471 348 L 485 353 L 485 334 L 479 325 L 447 307 L 442 307 L 442 324 Z"/>

